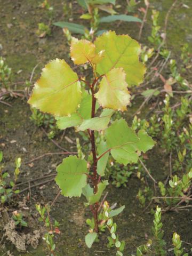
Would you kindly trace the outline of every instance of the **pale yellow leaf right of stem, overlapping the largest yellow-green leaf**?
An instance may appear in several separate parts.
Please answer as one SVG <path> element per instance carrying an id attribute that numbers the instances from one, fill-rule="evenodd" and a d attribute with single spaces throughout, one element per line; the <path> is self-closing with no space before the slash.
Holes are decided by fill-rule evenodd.
<path id="1" fill-rule="evenodd" d="M 126 106 L 130 102 L 130 94 L 125 77 L 123 68 L 114 68 L 103 76 L 99 91 L 94 94 L 103 108 L 126 110 Z"/>

